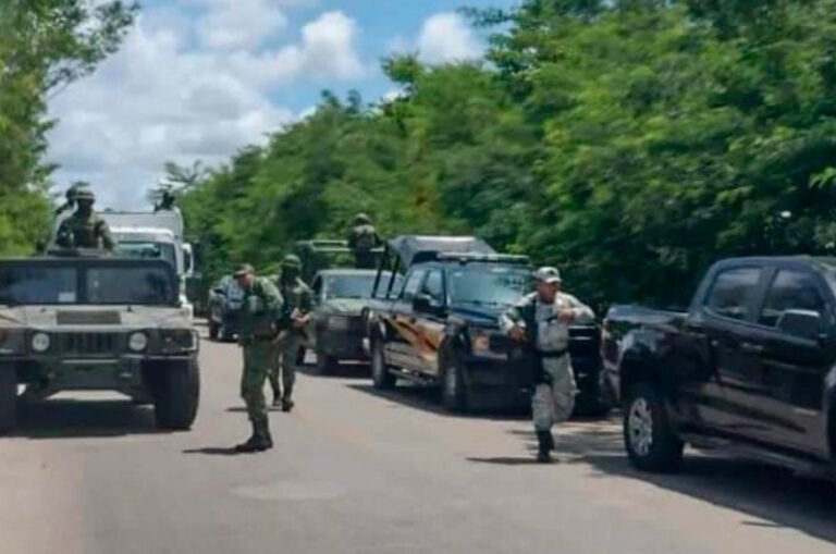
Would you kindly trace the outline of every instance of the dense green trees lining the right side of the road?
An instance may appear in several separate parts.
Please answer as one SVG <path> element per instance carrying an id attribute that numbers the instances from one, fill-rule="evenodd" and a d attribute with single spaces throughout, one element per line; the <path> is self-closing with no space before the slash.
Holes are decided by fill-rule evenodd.
<path id="1" fill-rule="evenodd" d="M 192 184 L 217 274 L 293 241 L 476 233 L 593 301 L 678 303 L 712 260 L 836 247 L 836 0 L 528 0 L 478 63 L 315 115 Z"/>

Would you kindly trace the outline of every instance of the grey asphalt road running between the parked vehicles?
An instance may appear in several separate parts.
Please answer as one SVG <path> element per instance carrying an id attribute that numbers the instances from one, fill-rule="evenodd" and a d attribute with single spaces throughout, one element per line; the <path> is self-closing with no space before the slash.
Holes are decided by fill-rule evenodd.
<path id="1" fill-rule="evenodd" d="M 836 549 L 836 490 L 693 456 L 634 472 L 613 421 L 577 421 L 560 463 L 530 463 L 513 416 L 453 417 L 425 391 L 379 394 L 362 368 L 302 376 L 278 447 L 248 433 L 239 353 L 205 341 L 192 432 L 113 396 L 62 396 L 0 439 L 0 552 L 813 554 Z"/>

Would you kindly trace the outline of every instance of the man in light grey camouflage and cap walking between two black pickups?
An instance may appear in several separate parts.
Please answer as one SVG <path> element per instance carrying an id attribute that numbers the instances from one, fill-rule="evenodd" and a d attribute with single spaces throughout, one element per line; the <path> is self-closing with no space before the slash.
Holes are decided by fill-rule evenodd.
<path id="1" fill-rule="evenodd" d="M 569 418 L 577 387 L 569 357 L 569 325 L 594 320 L 591 308 L 561 292 L 561 273 L 540 268 L 534 273 L 537 292 L 500 317 L 500 328 L 518 345 L 525 345 L 534 365 L 534 394 L 531 399 L 540 463 L 551 461 L 554 450 L 552 427 Z"/>

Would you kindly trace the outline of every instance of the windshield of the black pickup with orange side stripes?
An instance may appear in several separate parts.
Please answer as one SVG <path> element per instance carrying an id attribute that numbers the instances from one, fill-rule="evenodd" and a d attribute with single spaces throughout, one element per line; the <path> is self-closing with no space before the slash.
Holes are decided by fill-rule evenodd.
<path id="1" fill-rule="evenodd" d="M 453 304 L 511 306 L 531 291 L 531 272 L 507 266 L 471 264 L 448 273 Z"/>

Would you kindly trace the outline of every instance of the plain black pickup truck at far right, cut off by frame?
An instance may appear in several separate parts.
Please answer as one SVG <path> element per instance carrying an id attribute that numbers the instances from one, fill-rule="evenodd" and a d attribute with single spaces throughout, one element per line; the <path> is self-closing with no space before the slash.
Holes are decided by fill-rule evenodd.
<path id="1" fill-rule="evenodd" d="M 832 476 L 835 292 L 836 259 L 740 258 L 686 312 L 611 308 L 602 352 L 630 461 L 675 470 L 688 443 Z"/>

